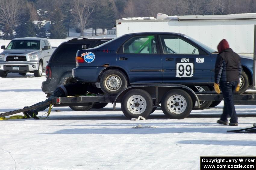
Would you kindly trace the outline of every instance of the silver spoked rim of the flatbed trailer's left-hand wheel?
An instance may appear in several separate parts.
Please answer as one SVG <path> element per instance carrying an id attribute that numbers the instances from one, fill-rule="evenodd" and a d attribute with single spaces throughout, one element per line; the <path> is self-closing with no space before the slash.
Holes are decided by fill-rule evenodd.
<path id="1" fill-rule="evenodd" d="M 139 115 L 146 110 L 147 102 L 141 95 L 133 95 L 127 100 L 127 108 L 131 113 Z"/>

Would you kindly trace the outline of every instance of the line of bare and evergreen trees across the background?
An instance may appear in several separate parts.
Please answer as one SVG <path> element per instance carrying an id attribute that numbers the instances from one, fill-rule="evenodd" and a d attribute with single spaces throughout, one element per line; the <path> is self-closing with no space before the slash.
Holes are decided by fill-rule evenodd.
<path id="1" fill-rule="evenodd" d="M 64 39 L 74 28 L 112 28 L 123 17 L 255 13 L 256 0 L 0 0 L 2 39 L 46 37 Z M 43 21 L 50 21 L 45 30 Z M 34 21 L 38 21 L 35 23 Z"/>

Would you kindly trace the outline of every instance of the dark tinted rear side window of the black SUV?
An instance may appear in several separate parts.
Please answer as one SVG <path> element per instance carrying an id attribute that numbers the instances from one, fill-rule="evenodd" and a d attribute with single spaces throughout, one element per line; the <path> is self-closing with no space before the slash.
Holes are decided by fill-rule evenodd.
<path id="1" fill-rule="evenodd" d="M 60 63 L 75 63 L 76 62 L 76 51 L 82 50 L 82 45 L 89 47 L 90 43 L 82 44 L 64 44 L 53 56 L 52 62 Z"/>

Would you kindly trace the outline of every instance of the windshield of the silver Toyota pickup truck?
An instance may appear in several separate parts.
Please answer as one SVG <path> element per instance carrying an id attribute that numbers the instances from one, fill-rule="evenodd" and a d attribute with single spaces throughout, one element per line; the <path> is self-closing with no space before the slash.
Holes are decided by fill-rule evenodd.
<path id="1" fill-rule="evenodd" d="M 30 41 L 30 40 L 14 40 L 11 41 L 6 49 L 35 49 L 39 50 L 40 45 L 39 41 Z"/>

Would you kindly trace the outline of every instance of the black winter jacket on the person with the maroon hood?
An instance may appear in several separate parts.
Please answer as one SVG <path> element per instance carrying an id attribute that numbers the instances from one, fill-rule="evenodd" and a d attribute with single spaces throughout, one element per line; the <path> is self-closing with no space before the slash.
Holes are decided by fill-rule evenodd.
<path id="1" fill-rule="evenodd" d="M 215 63 L 215 83 L 239 81 L 241 73 L 241 59 L 231 48 L 227 48 L 218 54 Z"/>

